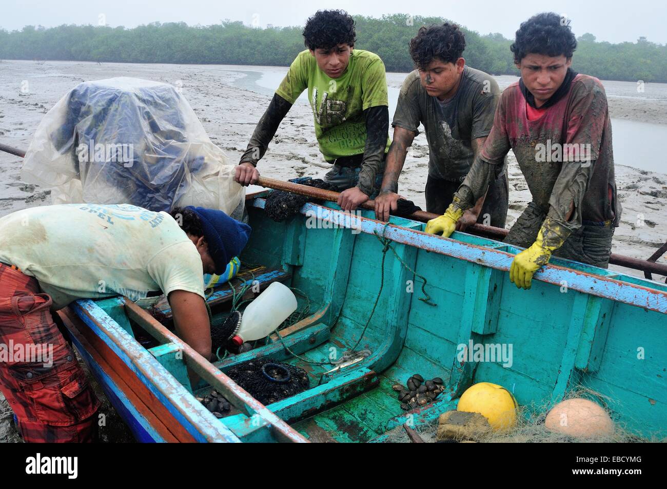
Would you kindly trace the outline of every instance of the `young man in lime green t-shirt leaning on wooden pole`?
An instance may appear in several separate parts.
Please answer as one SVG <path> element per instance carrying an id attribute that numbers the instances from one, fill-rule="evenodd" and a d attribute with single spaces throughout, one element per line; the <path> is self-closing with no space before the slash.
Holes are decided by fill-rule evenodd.
<path id="1" fill-rule="evenodd" d="M 303 29 L 307 50 L 297 55 L 236 167 L 241 185 L 259 177 L 257 161 L 290 107 L 308 90 L 315 136 L 333 168 L 324 179 L 342 191 L 338 205 L 354 210 L 375 197 L 389 149 L 389 103 L 384 63 L 354 48 L 354 20 L 344 11 L 317 11 Z"/>

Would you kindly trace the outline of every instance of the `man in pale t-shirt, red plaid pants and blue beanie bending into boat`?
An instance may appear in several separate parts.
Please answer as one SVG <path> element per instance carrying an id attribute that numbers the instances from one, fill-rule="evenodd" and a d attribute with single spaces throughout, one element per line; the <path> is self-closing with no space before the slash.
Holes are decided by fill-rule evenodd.
<path id="1" fill-rule="evenodd" d="M 15 361 L 0 362 L 0 390 L 23 440 L 88 442 L 97 434 L 99 402 L 51 311 L 82 298 L 165 294 L 176 333 L 209 359 L 203 274 L 223 273 L 249 232 L 202 207 L 169 215 L 128 204 L 49 205 L 1 217 L 0 348 L 11 345 Z"/>

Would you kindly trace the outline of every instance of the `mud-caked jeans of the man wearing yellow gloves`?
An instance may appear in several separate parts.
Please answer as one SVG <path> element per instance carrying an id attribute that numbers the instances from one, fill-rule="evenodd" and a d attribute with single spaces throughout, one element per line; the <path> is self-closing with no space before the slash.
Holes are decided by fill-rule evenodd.
<path id="1" fill-rule="evenodd" d="M 528 248 L 535 242 L 545 217 L 546 215 L 535 203 L 529 203 L 524 213 L 516 219 L 504 242 Z M 596 225 L 584 221 L 584 225 L 568 236 L 563 246 L 554 252 L 554 256 L 608 268 L 609 257 L 612 254 L 612 237 L 614 237 L 612 223 Z"/>

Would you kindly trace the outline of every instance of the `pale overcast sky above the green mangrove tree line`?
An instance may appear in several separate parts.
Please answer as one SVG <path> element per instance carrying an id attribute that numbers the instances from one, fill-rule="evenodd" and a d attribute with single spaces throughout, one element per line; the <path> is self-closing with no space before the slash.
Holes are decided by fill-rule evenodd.
<path id="1" fill-rule="evenodd" d="M 508 38 L 530 15 L 553 10 L 572 20 L 577 36 L 590 32 L 598 41 L 612 43 L 646 36 L 649 41 L 667 43 L 666 0 L 0 0 L 0 27 L 11 31 L 25 25 L 101 22 L 135 27 L 154 21 L 209 25 L 223 19 L 261 27 L 303 25 L 317 9 L 332 8 L 372 17 L 384 13 L 442 16 L 482 34 L 500 32 Z"/>

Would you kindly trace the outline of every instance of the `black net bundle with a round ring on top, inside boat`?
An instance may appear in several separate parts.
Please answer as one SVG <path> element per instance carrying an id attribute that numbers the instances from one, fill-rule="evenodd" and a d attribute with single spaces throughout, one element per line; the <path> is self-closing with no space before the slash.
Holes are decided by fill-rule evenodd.
<path id="1" fill-rule="evenodd" d="M 226 373 L 264 405 L 299 394 L 310 386 L 305 370 L 270 358 L 243 362 Z"/>

